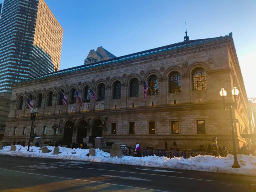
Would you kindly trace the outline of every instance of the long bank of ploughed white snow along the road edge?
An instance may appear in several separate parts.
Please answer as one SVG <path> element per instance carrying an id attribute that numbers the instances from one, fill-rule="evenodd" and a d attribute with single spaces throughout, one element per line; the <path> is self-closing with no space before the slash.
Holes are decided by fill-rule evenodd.
<path id="1" fill-rule="evenodd" d="M 136 165 L 155 168 L 169 168 L 169 169 L 184 169 L 184 170 L 197 170 L 214 173 L 229 173 L 238 175 L 251 175 L 256 176 L 256 157 L 248 155 L 238 155 L 238 163 L 241 168 L 235 169 L 231 166 L 234 163 L 233 155 L 227 157 L 215 157 L 215 156 L 201 156 L 190 157 L 185 159 L 183 157 L 167 158 L 158 156 L 148 157 L 129 157 L 124 156 L 121 159 L 114 157 L 110 158 L 110 154 L 102 150 L 96 149 L 96 156 L 88 157 L 86 154 L 89 150 L 84 149 L 70 149 L 66 147 L 59 147 L 60 154 L 53 155 L 52 146 L 47 146 L 48 150 L 52 150 L 50 153 L 41 153 L 40 147 L 30 146 L 30 151 L 27 152 L 27 146 L 16 145 L 16 151 L 10 151 L 10 146 L 5 146 L 0 151 L 2 155 L 23 156 L 23 157 L 43 157 L 54 159 L 67 159 L 78 161 L 90 161 L 99 163 L 113 163 L 123 165 Z M 75 153 L 74 153 L 75 152 Z M 72 154 L 73 153 L 73 154 Z"/>

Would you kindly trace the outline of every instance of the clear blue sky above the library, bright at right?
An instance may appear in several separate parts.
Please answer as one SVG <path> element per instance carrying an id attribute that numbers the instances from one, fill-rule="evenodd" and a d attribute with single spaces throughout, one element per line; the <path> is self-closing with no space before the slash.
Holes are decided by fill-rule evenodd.
<path id="1" fill-rule="evenodd" d="M 0 0 L 3 2 L 3 0 Z M 256 97 L 255 1 L 45 0 L 64 29 L 60 69 L 83 65 L 91 49 L 115 56 L 233 32 L 248 97 Z"/>

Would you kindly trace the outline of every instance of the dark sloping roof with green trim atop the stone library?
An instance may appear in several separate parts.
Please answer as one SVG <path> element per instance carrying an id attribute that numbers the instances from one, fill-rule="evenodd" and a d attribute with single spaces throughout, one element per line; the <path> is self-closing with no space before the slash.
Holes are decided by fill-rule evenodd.
<path id="1" fill-rule="evenodd" d="M 45 75 L 42 75 L 42 76 L 39 76 L 39 77 L 35 77 L 35 78 L 32 78 L 32 79 L 28 79 L 28 80 L 25 80 L 25 81 L 22 81 L 22 82 L 27 82 L 27 81 L 31 81 L 31 80 L 35 80 L 35 79 L 46 78 L 46 77 L 55 76 L 55 75 L 59 75 L 59 74 L 66 74 L 66 73 L 74 72 L 74 71 L 86 70 L 86 69 L 90 69 L 90 68 L 94 68 L 94 67 L 98 67 L 98 66 L 111 65 L 111 64 L 119 62 L 119 61 L 126 61 L 126 60 L 135 59 L 135 58 L 139 58 L 139 57 L 143 57 L 143 56 L 147 56 L 147 55 L 158 54 L 158 53 L 169 51 L 169 50 L 175 50 L 175 49 L 178 49 L 178 48 L 190 47 L 190 46 L 193 46 L 193 45 L 203 44 L 203 43 L 210 42 L 210 41 L 213 41 L 213 40 L 218 40 L 218 39 L 223 39 L 223 38 L 228 38 L 228 37 L 232 37 L 232 33 L 229 33 L 229 35 L 226 35 L 224 37 L 220 36 L 220 37 L 207 38 L 207 39 L 195 39 L 195 40 L 189 40 L 189 41 L 182 41 L 182 42 L 178 42 L 178 43 L 175 43 L 175 44 L 166 45 L 166 46 L 163 46 L 163 47 L 157 47 L 157 48 L 154 48 L 154 49 L 140 51 L 140 52 L 137 52 L 137 53 L 133 53 L 133 54 L 129 54 L 129 55 L 121 56 L 121 57 L 115 57 L 115 58 L 112 58 L 112 59 L 109 59 L 109 60 L 103 60 L 103 61 L 100 61 L 100 62 L 90 63 L 90 64 L 87 64 L 87 65 L 81 65 L 81 66 L 72 67 L 72 68 L 68 68 L 68 69 L 62 69 L 62 70 L 59 70 L 59 71 L 56 71 L 56 72 L 48 73 L 48 74 L 45 74 Z M 111 55 L 113 55 L 113 54 L 111 54 Z"/>

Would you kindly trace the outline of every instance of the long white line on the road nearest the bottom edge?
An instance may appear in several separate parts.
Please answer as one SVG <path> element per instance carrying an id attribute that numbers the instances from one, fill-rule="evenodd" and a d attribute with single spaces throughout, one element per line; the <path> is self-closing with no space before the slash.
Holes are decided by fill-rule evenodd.
<path id="1" fill-rule="evenodd" d="M 9 170 L 9 169 L 2 169 L 2 168 L 0 168 L 0 169 L 1 170 L 6 170 L 6 171 L 17 172 L 17 173 L 25 173 L 25 174 L 30 174 L 30 175 L 40 175 L 40 176 L 55 177 L 55 178 L 69 179 L 69 180 L 71 179 L 71 180 L 86 181 L 86 182 L 91 182 L 91 183 L 101 183 L 101 184 L 107 184 L 107 185 L 114 185 L 114 186 L 121 186 L 121 187 L 130 187 L 130 188 L 144 189 L 144 190 L 151 190 L 151 191 L 170 192 L 170 191 L 162 191 L 162 190 L 157 190 L 157 189 L 148 189 L 148 188 L 143 188 L 143 187 L 133 187 L 133 186 L 128 186 L 128 185 L 120 185 L 120 184 L 113 184 L 113 183 L 90 181 L 90 180 L 85 180 L 85 179 L 74 179 L 74 178 L 68 178 L 68 177 L 58 177 L 58 176 L 52 176 L 52 175 L 41 175 L 41 174 L 36 174 L 36 173 L 27 173 L 27 172 L 21 172 L 21 171 Z"/>

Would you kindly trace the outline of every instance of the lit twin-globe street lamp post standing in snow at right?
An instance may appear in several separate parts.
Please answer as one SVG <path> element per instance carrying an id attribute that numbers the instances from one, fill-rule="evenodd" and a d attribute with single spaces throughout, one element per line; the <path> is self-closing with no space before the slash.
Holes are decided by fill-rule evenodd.
<path id="1" fill-rule="evenodd" d="M 238 89 L 236 86 L 232 89 L 232 95 L 234 97 L 234 101 L 231 102 L 226 102 L 226 96 L 227 96 L 227 91 L 225 91 L 224 88 L 221 89 L 220 91 L 220 96 L 223 99 L 223 105 L 224 109 L 229 108 L 229 113 L 230 113 L 230 119 L 231 119 L 231 133 L 232 133 L 232 141 L 233 141 L 233 150 L 234 150 L 234 164 L 232 165 L 232 168 L 240 168 L 240 165 L 237 162 L 237 150 L 236 150 L 236 141 L 235 141 L 235 134 L 234 134 L 234 122 L 233 122 L 233 116 L 232 116 L 232 107 L 237 109 L 237 96 L 239 94 Z"/>

